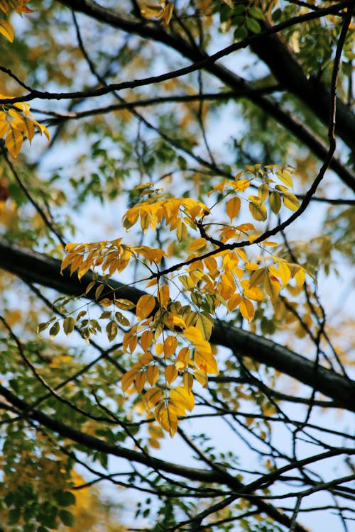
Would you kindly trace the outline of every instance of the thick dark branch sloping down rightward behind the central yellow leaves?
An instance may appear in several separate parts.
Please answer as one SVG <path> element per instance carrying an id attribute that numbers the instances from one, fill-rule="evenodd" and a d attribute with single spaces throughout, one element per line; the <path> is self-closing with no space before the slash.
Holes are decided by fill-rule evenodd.
<path id="1" fill-rule="evenodd" d="M 20 277 L 26 282 L 38 283 L 50 287 L 62 294 L 80 296 L 92 282 L 92 275 L 88 272 L 81 281 L 77 277 L 70 277 L 65 270 L 60 275 L 60 260 L 47 257 L 41 253 L 23 248 L 20 245 L 0 238 L 0 267 Z M 110 286 L 119 293 L 119 297 L 136 303 L 145 293 L 118 281 L 111 279 Z M 94 299 L 93 287 L 85 296 Z M 113 292 L 102 293 L 102 297 L 112 297 Z M 327 397 L 332 398 L 339 408 L 355 411 L 355 382 L 332 370 L 315 365 L 307 358 L 294 353 L 292 350 L 278 343 L 262 338 L 249 331 L 231 326 L 222 321 L 215 321 L 211 342 L 230 348 L 239 355 L 253 358 L 276 370 L 290 375 L 303 384 L 307 384 Z"/>

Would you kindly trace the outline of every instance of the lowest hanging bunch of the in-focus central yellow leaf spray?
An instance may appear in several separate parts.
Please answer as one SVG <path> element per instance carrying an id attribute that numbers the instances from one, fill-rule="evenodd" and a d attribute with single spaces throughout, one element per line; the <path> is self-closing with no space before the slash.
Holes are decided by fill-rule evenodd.
<path id="1" fill-rule="evenodd" d="M 218 375 L 208 341 L 212 317 L 171 301 L 168 285 L 159 287 L 157 299 L 143 295 L 136 317 L 138 324 L 124 334 L 123 349 L 131 354 L 138 350 L 141 355 L 122 377 L 121 387 L 127 392 L 134 386 L 138 393 L 148 387 L 143 396 L 146 409 L 153 410 L 159 425 L 174 436 L 178 417 L 195 406 L 194 381 L 206 386 L 207 375 Z M 180 385 L 175 386 L 177 379 Z"/>

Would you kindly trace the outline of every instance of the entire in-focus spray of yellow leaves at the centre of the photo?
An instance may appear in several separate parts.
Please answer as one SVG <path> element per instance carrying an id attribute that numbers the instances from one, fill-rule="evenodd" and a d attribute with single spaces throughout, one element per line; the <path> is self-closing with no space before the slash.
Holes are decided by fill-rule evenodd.
<path id="1" fill-rule="evenodd" d="M 212 189 L 212 193 L 219 194 L 214 206 L 226 200 L 224 210 L 229 223 L 205 221 L 207 217 L 209 220 L 212 208 L 201 201 L 164 194 L 152 183 L 137 187 L 141 201 L 124 215 L 124 228 L 128 231 L 134 224 L 140 223 L 145 233 L 148 228 L 155 231 L 158 226 L 164 225 L 168 231 L 176 233 L 182 245 L 187 244 L 190 255 L 175 268 L 180 270 L 184 267 L 185 271 L 174 277 L 174 285 L 178 287 L 178 279 L 181 292 L 190 294 L 191 305 L 182 306 L 180 301 L 170 297 L 170 279 L 166 272 L 162 284 L 158 265 L 168 255 L 160 248 L 126 245 L 122 243 L 122 238 L 67 245 L 68 254 L 62 261 L 61 272 L 70 266 L 70 275 L 77 271 L 81 279 L 90 269 L 94 270 L 86 293 L 95 289 L 95 299 L 99 304 L 111 306 L 111 310 L 104 310 L 99 318 L 109 320 L 107 337 L 110 341 L 114 340 L 121 328 L 122 349 L 135 357 L 133 367 L 121 379 L 123 391 L 129 392 L 135 387 L 139 394 L 143 394 L 146 409 L 153 411 L 155 420 L 170 436 L 178 428 L 179 416 L 185 416 L 195 404 L 192 393 L 194 382 L 197 380 L 207 386 L 208 375 L 218 374 L 217 360 L 209 343 L 212 316 L 217 306 L 222 304 L 229 312 L 239 309 L 241 316 L 251 321 L 258 301 L 268 297 L 272 304 L 276 304 L 280 289 L 291 279 L 296 287 L 302 287 L 305 282 L 303 267 L 268 251 L 269 246 L 276 245 L 273 242 L 264 240 L 258 243 L 260 256 L 251 260 L 247 248 L 258 237 L 256 228 L 249 222 L 231 225 L 231 221 L 239 215 L 241 201 L 244 200 L 239 194 L 258 179 L 261 179 L 258 195 L 249 196 L 246 200 L 253 218 L 266 220 L 268 211 L 264 203 L 267 199 L 275 214 L 282 204 L 288 209 L 297 209 L 297 198 L 289 190 L 293 187 L 291 173 L 290 167 L 256 165 L 239 172 L 234 181 L 217 184 Z M 275 184 L 275 178 L 283 185 Z M 218 240 L 207 233 L 215 226 L 218 227 Z M 243 248 L 226 245 L 229 240 L 234 243 L 243 240 L 245 245 Z M 119 294 L 111 291 L 107 284 L 107 279 L 124 270 L 131 258 L 146 265 L 151 272 L 146 286 L 155 287 L 154 294 L 144 294 L 136 304 L 119 299 Z M 104 274 L 103 282 L 98 283 L 97 267 Z M 103 292 L 105 287 L 106 292 Z M 131 325 L 121 311 L 134 311 L 136 323 Z M 70 334 L 84 314 L 86 311 L 81 311 L 76 319 L 67 316 L 63 322 L 65 333 Z M 39 332 L 50 323 L 40 324 Z M 50 336 L 57 334 L 59 328 L 58 322 L 52 324 Z M 99 322 L 86 316 L 78 328 L 87 339 L 90 333 L 101 331 Z"/>

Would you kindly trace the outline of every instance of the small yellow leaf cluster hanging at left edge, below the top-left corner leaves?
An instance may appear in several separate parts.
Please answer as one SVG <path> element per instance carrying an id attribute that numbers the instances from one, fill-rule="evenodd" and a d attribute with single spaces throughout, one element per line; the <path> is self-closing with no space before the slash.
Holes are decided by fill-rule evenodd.
<path id="1" fill-rule="evenodd" d="M 0 99 L 8 99 L 11 96 L 0 94 Z M 0 105 L 0 138 L 5 138 L 5 145 L 13 157 L 20 153 L 23 143 L 23 135 L 29 142 L 33 139 L 35 129 L 50 140 L 48 129 L 35 120 L 30 112 L 30 106 L 26 102 L 20 102 L 11 106 Z"/>

